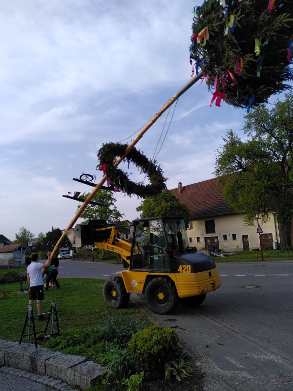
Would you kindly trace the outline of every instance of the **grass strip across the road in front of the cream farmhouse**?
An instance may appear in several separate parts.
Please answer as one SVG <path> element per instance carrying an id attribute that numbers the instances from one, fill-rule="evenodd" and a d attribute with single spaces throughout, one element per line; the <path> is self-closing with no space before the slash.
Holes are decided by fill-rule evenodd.
<path id="1" fill-rule="evenodd" d="M 282 250 L 263 251 L 264 261 L 293 261 L 293 252 Z M 231 257 L 212 257 L 217 262 L 259 262 L 261 261 L 260 251 L 241 251 L 239 255 Z"/>

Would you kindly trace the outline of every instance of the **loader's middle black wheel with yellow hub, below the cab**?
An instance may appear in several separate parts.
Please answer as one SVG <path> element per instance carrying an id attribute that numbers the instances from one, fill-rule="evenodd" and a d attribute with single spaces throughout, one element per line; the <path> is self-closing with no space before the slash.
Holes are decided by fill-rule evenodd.
<path id="1" fill-rule="evenodd" d="M 146 286 L 146 303 L 156 314 L 168 314 L 179 304 L 179 297 L 174 282 L 158 277 Z"/>

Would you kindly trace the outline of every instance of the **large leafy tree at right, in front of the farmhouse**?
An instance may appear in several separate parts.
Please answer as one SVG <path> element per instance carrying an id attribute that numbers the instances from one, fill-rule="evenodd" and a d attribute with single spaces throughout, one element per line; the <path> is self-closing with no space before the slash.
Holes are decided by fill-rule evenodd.
<path id="1" fill-rule="evenodd" d="M 280 223 L 282 248 L 291 248 L 293 217 L 293 94 L 285 94 L 269 110 L 265 105 L 245 115 L 242 141 L 232 130 L 217 150 L 215 174 L 223 197 L 244 221 L 253 225 L 254 212 L 266 222 L 270 214 Z"/>

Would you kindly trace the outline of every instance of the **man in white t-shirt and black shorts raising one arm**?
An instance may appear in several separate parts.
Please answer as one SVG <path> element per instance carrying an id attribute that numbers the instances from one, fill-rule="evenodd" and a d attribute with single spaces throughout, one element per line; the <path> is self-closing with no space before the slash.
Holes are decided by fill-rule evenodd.
<path id="1" fill-rule="evenodd" d="M 42 268 L 46 269 L 51 265 L 51 253 L 47 253 L 47 256 L 48 260 L 46 263 L 40 263 L 38 254 L 33 254 L 32 261 L 30 265 L 27 266 L 29 303 L 34 303 L 37 299 L 37 310 L 39 314 L 42 314 L 42 300 L 44 298 Z M 39 315 L 39 321 L 44 320 L 46 320 L 46 318 L 43 315 Z"/>

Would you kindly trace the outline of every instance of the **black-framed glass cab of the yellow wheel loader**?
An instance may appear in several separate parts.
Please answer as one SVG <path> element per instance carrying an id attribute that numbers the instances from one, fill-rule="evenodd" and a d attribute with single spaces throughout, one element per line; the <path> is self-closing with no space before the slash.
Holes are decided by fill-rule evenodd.
<path id="1" fill-rule="evenodd" d="M 152 217 L 133 221 L 130 270 L 173 272 L 172 252 L 189 249 L 183 217 Z"/>

